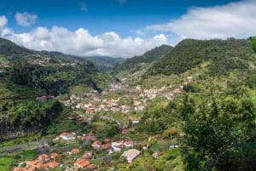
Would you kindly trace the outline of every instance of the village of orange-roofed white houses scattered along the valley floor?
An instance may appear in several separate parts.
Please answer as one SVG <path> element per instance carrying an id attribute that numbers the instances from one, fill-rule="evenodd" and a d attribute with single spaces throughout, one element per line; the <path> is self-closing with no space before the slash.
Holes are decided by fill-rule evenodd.
<path id="1" fill-rule="evenodd" d="M 123 92 L 124 96 L 113 95 L 120 91 Z M 108 117 L 105 116 L 102 118 L 109 119 L 113 118 L 111 115 L 116 112 L 121 114 L 138 113 L 143 111 L 148 105 L 148 102 L 154 100 L 156 97 L 172 100 L 176 94 L 181 94 L 181 92 L 182 87 L 143 89 L 140 85 L 137 85 L 134 89 L 131 89 L 124 85 L 124 83 L 111 83 L 109 88 L 104 89 L 101 94 L 93 90 L 83 97 L 80 97 L 79 94 L 71 94 L 69 99 L 66 100 L 61 99 L 61 97 L 56 97 L 55 99 L 73 110 L 80 111 L 79 117 L 89 118 L 90 123 L 90 119 L 94 114 L 108 113 Z M 48 98 L 54 97 L 42 96 L 38 97 L 37 100 L 47 100 Z M 71 114 L 68 119 L 72 120 L 75 117 Z M 128 125 L 120 123 L 114 118 L 113 121 L 119 123 L 121 135 L 126 135 L 129 132 Z M 132 125 L 139 122 L 139 117 L 131 118 Z M 101 170 L 101 167 L 104 166 L 104 161 L 108 162 L 112 158 L 121 162 L 133 162 L 143 151 L 148 150 L 150 140 L 153 139 L 154 137 L 149 137 L 148 140 L 140 142 L 137 140 L 127 140 L 125 136 L 120 136 L 119 140 L 113 139 L 113 137 L 105 137 L 104 140 L 99 140 L 92 131 L 87 134 L 77 134 L 75 131 L 69 133 L 63 132 L 53 140 L 50 140 L 54 144 L 58 144 L 58 147 L 46 143 L 44 148 L 49 149 L 49 151 L 43 151 L 34 161 L 20 162 L 13 170 L 97 171 Z M 168 145 L 166 150 L 172 150 L 177 147 L 178 145 Z M 113 157 L 115 154 L 118 157 Z M 157 158 L 162 154 L 163 151 L 154 151 L 152 157 Z"/>

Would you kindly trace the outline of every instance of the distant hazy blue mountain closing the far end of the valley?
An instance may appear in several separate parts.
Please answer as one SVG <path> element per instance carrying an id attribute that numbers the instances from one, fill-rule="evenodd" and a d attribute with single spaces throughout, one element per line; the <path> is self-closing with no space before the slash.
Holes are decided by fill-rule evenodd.
<path id="1" fill-rule="evenodd" d="M 89 56 L 84 57 L 84 60 L 91 61 L 99 71 L 110 71 L 114 66 L 124 61 L 123 58 L 112 58 L 109 56 Z"/>

